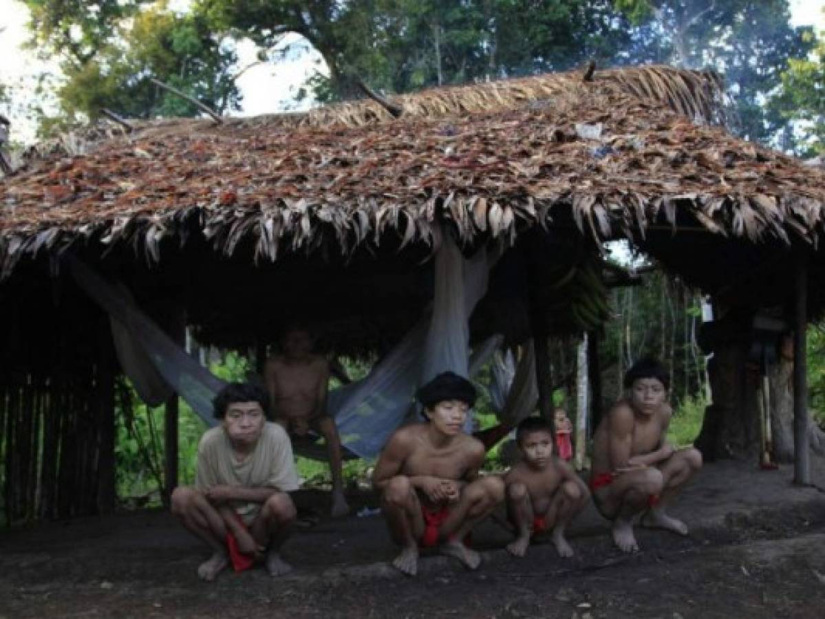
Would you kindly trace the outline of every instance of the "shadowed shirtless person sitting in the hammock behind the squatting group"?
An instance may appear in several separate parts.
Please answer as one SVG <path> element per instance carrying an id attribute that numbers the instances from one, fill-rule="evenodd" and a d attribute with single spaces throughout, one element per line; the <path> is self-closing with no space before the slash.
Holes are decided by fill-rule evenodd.
<path id="1" fill-rule="evenodd" d="M 281 354 L 266 362 L 264 377 L 276 421 L 295 438 L 304 438 L 310 429 L 327 443 L 332 473 L 333 518 L 349 512 L 344 498 L 341 438 L 335 421 L 327 413 L 329 363 L 314 354 L 309 332 L 292 326 L 281 338 Z"/>

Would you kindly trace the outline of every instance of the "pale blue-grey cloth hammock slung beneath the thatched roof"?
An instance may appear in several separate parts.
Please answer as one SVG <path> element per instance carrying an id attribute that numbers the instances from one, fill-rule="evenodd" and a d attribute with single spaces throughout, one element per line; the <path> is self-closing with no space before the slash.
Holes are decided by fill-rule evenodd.
<path id="1" fill-rule="evenodd" d="M 481 250 L 464 259 L 449 234 L 442 238 L 431 312 L 363 380 L 329 394 L 328 412 L 342 446 L 359 457 L 376 457 L 395 429 L 415 419 L 413 394 L 422 382 L 446 370 L 472 377 L 500 341 L 484 342 L 469 359 L 469 315 L 487 291 L 495 256 Z M 177 392 L 207 425 L 216 424 L 212 400 L 226 383 L 172 341 L 125 288 L 107 283 L 76 258 L 69 264 L 81 288 L 109 314 L 120 365 L 141 399 L 158 406 Z M 471 424 L 468 415 L 468 432 Z"/>

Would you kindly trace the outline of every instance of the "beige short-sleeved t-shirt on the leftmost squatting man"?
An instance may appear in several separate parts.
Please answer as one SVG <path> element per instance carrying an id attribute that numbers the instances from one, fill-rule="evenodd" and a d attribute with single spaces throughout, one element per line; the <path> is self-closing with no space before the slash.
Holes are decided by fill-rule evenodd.
<path id="1" fill-rule="evenodd" d="M 243 462 L 235 458 L 224 426 L 208 429 L 198 444 L 195 487 L 205 490 L 211 485 L 298 490 L 292 443 L 284 428 L 267 421 L 255 449 Z M 245 501 L 233 501 L 232 507 L 247 525 L 261 510 L 261 504 Z"/>

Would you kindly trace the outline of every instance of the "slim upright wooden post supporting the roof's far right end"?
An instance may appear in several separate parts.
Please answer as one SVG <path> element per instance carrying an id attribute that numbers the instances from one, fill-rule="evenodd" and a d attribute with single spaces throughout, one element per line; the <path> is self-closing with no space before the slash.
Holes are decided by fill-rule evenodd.
<path id="1" fill-rule="evenodd" d="M 810 485 L 808 458 L 808 363 L 805 335 L 808 331 L 808 265 L 797 256 L 794 307 L 794 483 Z"/>

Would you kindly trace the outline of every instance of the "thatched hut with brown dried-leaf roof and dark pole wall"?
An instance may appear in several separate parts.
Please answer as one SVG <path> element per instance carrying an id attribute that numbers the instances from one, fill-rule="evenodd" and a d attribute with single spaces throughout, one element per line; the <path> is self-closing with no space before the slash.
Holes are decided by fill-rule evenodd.
<path id="1" fill-rule="evenodd" d="M 205 343 L 243 349 L 295 316 L 337 354 L 386 349 L 431 299 L 441 230 L 467 254 L 507 248 L 474 314 L 476 339 L 532 334 L 539 346 L 595 326 L 604 312 L 575 307 L 587 294 L 572 300 L 564 286 L 621 238 L 722 306 L 790 316 L 790 274 L 825 277 L 825 172 L 734 138 L 721 109 L 714 74 L 649 67 L 425 91 L 392 106 L 133 122 L 44 147 L 0 184 L 8 517 L 113 500 L 119 369 L 106 315 L 65 256 L 125 284 L 176 336 L 185 321 Z M 808 289 L 809 311 L 823 302 Z M 540 387 L 549 401 L 545 378 Z"/>

